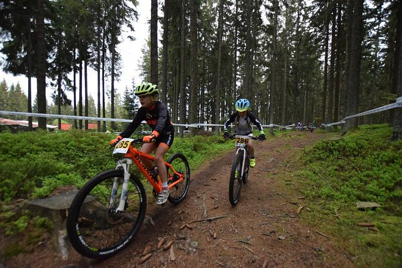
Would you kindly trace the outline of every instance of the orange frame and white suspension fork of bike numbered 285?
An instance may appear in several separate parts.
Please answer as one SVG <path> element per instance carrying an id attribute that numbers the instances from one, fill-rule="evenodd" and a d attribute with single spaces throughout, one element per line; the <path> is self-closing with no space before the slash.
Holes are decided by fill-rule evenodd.
<path id="1" fill-rule="evenodd" d="M 117 168 L 122 168 L 124 170 L 124 180 L 123 180 L 123 186 L 122 186 L 122 194 L 120 196 L 120 202 L 119 206 L 116 209 L 116 213 L 119 211 L 124 211 L 125 204 L 126 204 L 126 198 L 127 198 L 127 191 L 129 187 L 129 181 L 130 181 L 130 167 L 133 165 L 133 162 L 135 165 L 137 165 L 138 169 L 141 171 L 142 174 L 147 178 L 147 180 L 151 183 L 152 187 L 155 189 L 156 193 L 159 193 L 162 190 L 161 186 L 161 180 L 158 180 L 155 182 L 151 176 L 151 173 L 149 172 L 148 168 L 144 165 L 143 162 L 140 160 L 140 156 L 145 157 L 151 161 L 155 160 L 155 157 L 141 152 L 140 150 L 134 148 L 132 145 L 130 145 L 128 152 L 125 154 L 124 158 L 119 160 L 119 163 L 116 166 Z M 168 185 L 168 188 L 172 188 L 176 184 L 180 183 L 183 181 L 183 175 L 178 173 L 176 170 L 174 170 L 173 166 L 169 163 L 166 163 L 163 161 L 164 165 L 167 166 L 169 169 L 173 171 L 174 174 L 178 176 L 178 180 L 175 181 L 174 183 Z M 111 198 L 110 198 L 110 203 L 109 205 L 112 206 L 114 202 L 116 201 L 117 198 L 117 189 L 119 187 L 119 178 L 115 178 L 115 181 L 113 182 L 113 187 L 112 187 L 112 193 L 111 193 Z"/>

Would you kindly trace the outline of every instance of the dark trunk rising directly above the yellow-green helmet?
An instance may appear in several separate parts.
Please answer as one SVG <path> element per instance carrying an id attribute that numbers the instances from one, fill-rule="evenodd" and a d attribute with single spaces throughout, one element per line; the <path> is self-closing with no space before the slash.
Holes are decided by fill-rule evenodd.
<path id="1" fill-rule="evenodd" d="M 151 83 L 158 85 L 158 0 L 151 0 Z"/>

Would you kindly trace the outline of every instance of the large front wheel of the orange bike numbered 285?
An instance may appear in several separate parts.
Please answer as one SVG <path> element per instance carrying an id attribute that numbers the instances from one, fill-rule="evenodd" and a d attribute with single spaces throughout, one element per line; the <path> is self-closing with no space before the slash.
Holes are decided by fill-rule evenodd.
<path id="1" fill-rule="evenodd" d="M 81 255 L 107 258 L 134 238 L 144 221 L 145 190 L 130 176 L 124 211 L 117 212 L 124 171 L 111 169 L 91 178 L 77 193 L 68 210 L 67 234 Z M 112 196 L 116 198 L 112 198 Z"/>

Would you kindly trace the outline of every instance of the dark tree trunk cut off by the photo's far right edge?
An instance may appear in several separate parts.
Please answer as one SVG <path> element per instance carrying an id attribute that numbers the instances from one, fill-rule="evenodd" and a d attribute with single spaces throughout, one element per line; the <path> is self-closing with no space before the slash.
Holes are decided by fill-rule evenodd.
<path id="1" fill-rule="evenodd" d="M 402 45 L 402 2 L 399 1 L 398 4 L 398 21 L 396 26 L 396 46 L 395 46 L 395 57 L 398 57 L 398 78 L 397 78 L 397 97 L 402 97 L 402 51 L 400 46 Z M 396 48 L 398 53 L 396 54 Z M 395 109 L 395 116 L 393 118 L 393 133 L 391 140 L 402 139 L 402 107 Z"/>

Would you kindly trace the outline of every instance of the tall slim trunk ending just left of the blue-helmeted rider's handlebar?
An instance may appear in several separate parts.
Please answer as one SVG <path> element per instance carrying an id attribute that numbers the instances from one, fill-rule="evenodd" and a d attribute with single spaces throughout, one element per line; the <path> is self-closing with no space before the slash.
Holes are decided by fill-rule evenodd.
<path id="1" fill-rule="evenodd" d="M 222 62 L 222 31 L 223 31 L 223 0 L 219 2 L 219 18 L 218 18 L 218 70 L 217 70 L 217 87 L 215 101 L 215 124 L 219 124 L 220 105 L 221 105 L 221 62 Z M 247 48 L 246 48 L 247 49 Z M 215 127 L 215 134 L 219 134 L 220 127 Z"/>

